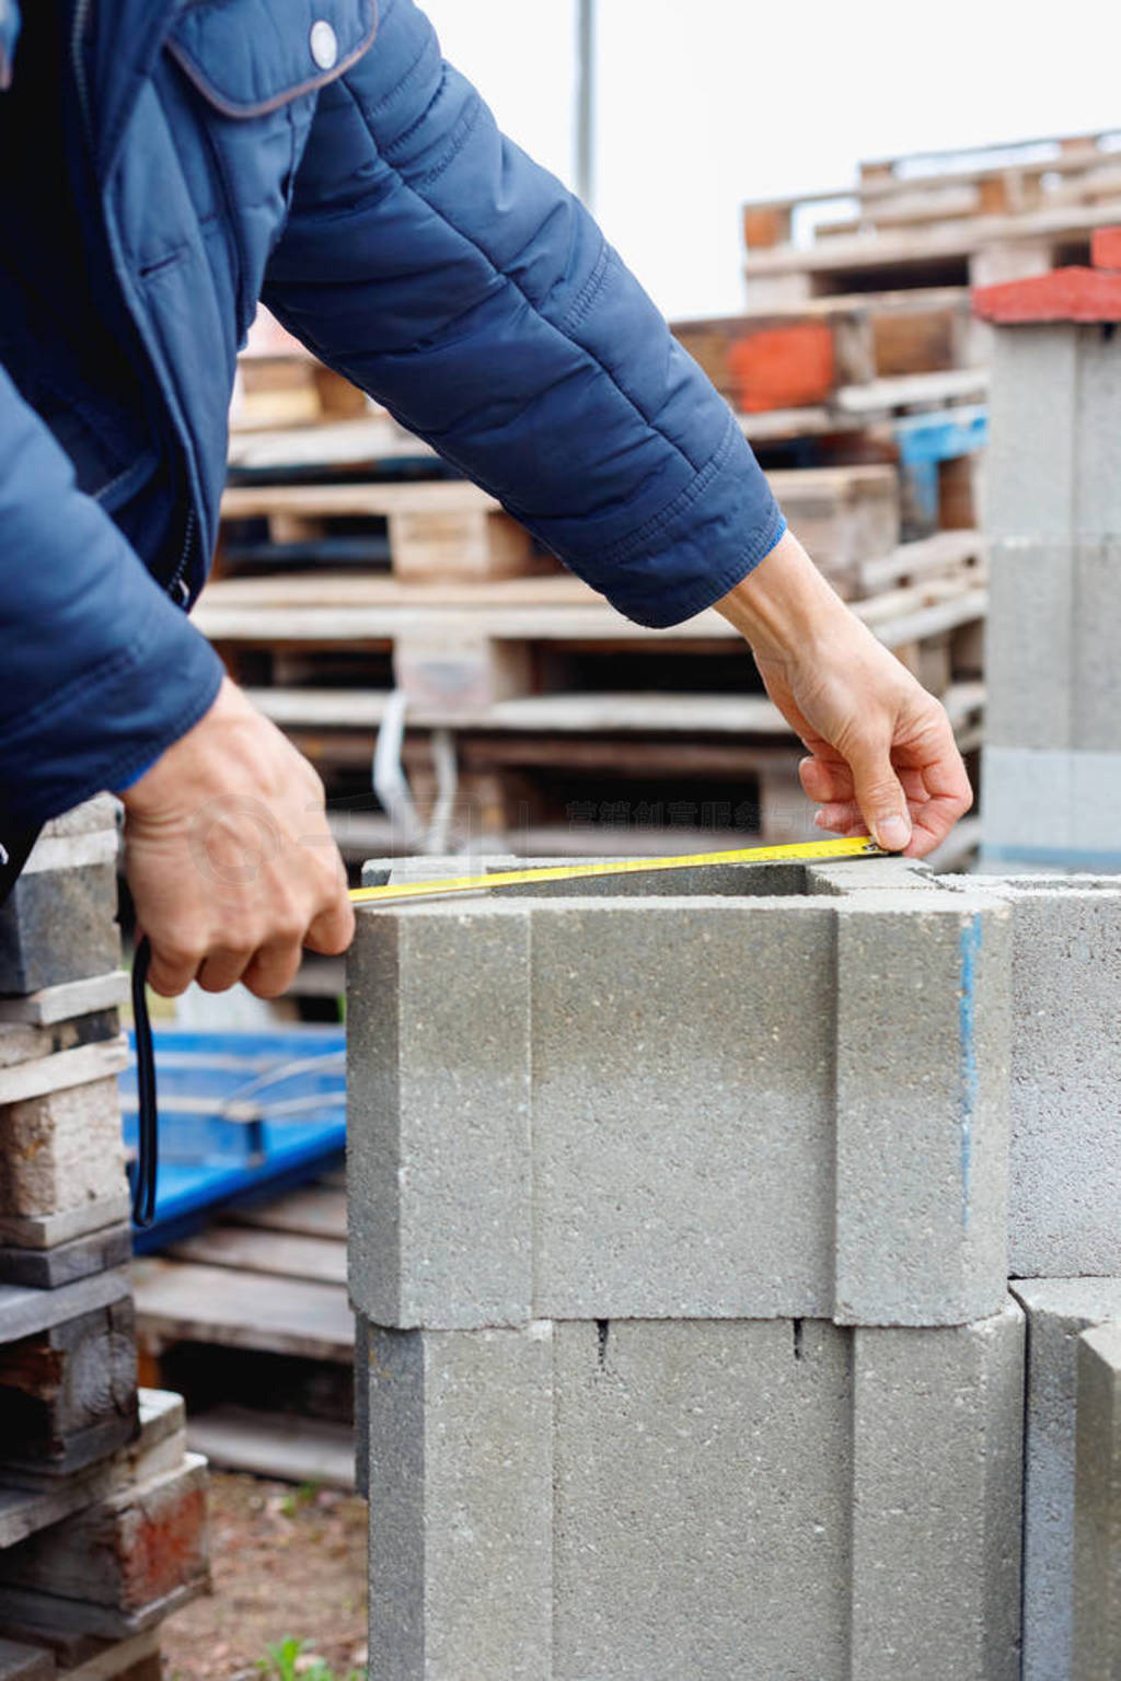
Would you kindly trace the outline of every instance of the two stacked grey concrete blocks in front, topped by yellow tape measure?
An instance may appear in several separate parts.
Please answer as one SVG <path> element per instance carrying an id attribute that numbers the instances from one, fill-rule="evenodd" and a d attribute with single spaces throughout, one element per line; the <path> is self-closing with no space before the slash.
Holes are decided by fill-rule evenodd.
<path id="1" fill-rule="evenodd" d="M 1018 1674 L 1012 916 L 903 861 L 360 914 L 385 1681 Z"/>

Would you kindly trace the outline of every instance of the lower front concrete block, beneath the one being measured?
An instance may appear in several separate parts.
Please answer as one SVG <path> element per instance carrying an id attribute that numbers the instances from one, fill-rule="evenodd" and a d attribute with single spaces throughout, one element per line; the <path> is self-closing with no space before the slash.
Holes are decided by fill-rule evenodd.
<path id="1" fill-rule="evenodd" d="M 371 1331 L 382 1681 L 1012 1681 L 1022 1315 Z"/>

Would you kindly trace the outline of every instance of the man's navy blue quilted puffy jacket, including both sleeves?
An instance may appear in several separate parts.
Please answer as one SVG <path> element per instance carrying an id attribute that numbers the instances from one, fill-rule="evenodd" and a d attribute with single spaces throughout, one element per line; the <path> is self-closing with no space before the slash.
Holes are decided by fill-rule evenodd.
<path id="1" fill-rule="evenodd" d="M 640 624 L 699 612 L 778 541 L 726 405 L 412 0 L 34 5 L 59 15 L 71 197 L 15 190 L 30 163 L 8 133 L 8 822 L 128 785 L 217 693 L 183 607 L 259 298 Z M 27 0 L 24 25 L 30 42 Z M 17 34 L 0 0 L 0 123 Z"/>

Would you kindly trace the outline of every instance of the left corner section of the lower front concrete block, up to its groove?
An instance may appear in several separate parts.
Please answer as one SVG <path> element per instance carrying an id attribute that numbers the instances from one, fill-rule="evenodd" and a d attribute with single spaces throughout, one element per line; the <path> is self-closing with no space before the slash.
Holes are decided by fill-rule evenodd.
<path id="1" fill-rule="evenodd" d="M 550 1681 L 551 1326 L 368 1345 L 378 1681 Z"/>

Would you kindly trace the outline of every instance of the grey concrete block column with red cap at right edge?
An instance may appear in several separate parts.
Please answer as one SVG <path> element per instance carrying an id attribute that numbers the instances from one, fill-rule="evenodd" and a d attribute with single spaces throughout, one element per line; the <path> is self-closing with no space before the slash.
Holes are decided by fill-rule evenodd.
<path id="1" fill-rule="evenodd" d="M 983 861 L 1121 869 L 1121 272 L 975 294 L 995 323 Z"/>

